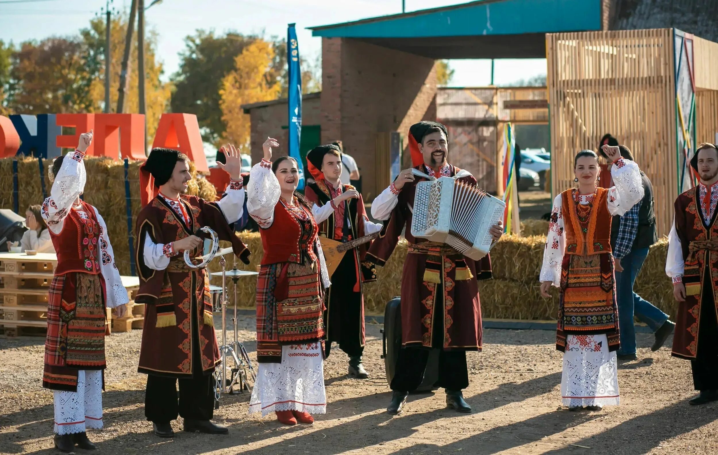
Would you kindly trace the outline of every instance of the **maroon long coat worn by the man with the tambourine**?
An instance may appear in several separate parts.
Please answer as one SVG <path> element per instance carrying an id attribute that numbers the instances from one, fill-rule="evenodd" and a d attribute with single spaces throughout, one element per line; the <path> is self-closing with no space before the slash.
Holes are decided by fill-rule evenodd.
<path id="1" fill-rule="evenodd" d="M 190 226 L 185 225 L 161 196 L 149 201 L 137 217 L 135 259 L 140 284 L 135 301 L 147 304 L 137 370 L 186 378 L 197 366 L 205 372 L 213 370 L 220 360 L 215 327 L 210 323 L 212 300 L 207 271 L 187 267 L 184 254 L 169 259 L 167 269 L 150 269 L 144 262 L 145 234 L 149 234 L 155 244 L 169 244 L 209 226 L 220 240 L 232 242 L 233 252 L 245 263 L 248 263 L 249 250 L 230 229 L 216 203 L 196 196 L 182 196 L 180 201 L 191 217 Z M 158 315 L 164 319 L 169 317 L 173 324 L 157 327 Z M 192 343 L 193 325 L 199 329 L 199 347 Z M 192 365 L 192 352 L 197 348 L 202 365 Z"/>

